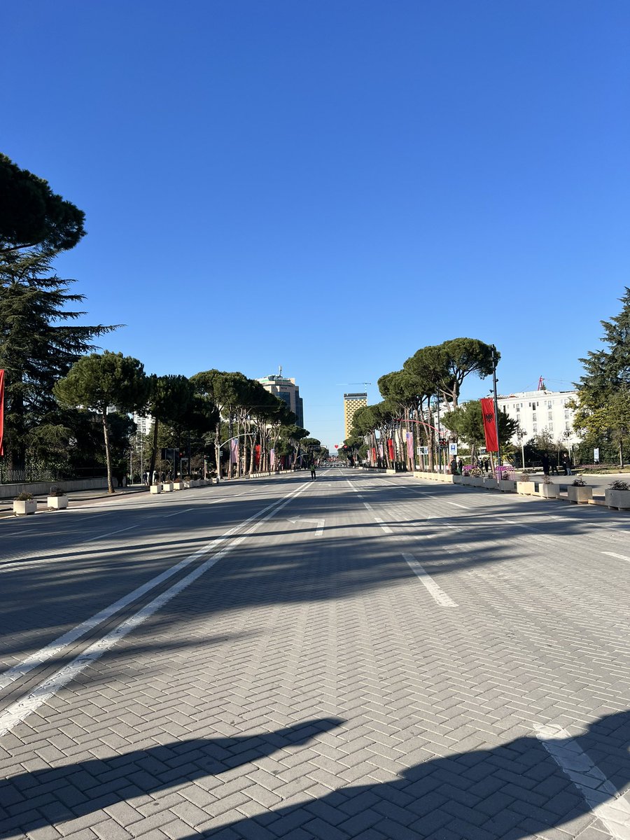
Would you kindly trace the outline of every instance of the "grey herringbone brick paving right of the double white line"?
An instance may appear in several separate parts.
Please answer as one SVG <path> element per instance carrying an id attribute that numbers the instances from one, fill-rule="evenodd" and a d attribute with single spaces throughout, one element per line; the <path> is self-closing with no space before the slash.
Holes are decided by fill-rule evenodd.
<path id="1" fill-rule="evenodd" d="M 5 737 L 1 836 L 610 837 L 533 724 L 627 785 L 630 568 L 602 580 L 601 533 L 511 534 L 492 497 L 449 496 L 470 522 L 443 522 L 360 483 L 394 534 L 322 482 L 318 543 L 271 520 Z"/>

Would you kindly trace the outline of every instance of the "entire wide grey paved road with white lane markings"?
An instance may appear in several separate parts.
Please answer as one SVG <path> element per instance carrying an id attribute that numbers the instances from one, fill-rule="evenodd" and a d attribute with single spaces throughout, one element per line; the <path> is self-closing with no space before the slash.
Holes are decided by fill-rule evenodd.
<path id="1" fill-rule="evenodd" d="M 319 470 L 0 521 L 0 838 L 630 838 L 630 515 Z"/>

